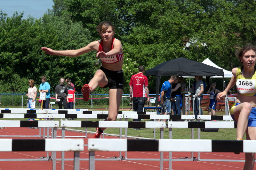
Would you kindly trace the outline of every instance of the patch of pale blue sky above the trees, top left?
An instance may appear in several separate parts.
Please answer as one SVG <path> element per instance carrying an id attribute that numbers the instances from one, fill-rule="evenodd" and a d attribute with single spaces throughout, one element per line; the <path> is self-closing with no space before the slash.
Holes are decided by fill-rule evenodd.
<path id="1" fill-rule="evenodd" d="M 0 10 L 7 13 L 8 17 L 12 17 L 13 13 L 17 11 L 24 11 L 23 18 L 27 18 L 30 14 L 34 18 L 40 18 L 52 9 L 52 0 L 0 0 Z"/>

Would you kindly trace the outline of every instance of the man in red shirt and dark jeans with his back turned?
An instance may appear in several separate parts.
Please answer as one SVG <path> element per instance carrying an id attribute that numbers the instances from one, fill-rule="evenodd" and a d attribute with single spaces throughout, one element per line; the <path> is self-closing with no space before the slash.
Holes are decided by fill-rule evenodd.
<path id="1" fill-rule="evenodd" d="M 145 93 L 147 94 L 147 101 L 149 101 L 148 95 L 148 78 L 143 75 L 145 67 L 140 66 L 139 72 L 132 75 L 130 80 L 130 100 L 132 101 L 133 111 L 143 112 L 145 104 Z M 140 119 L 133 119 L 133 121 L 140 121 Z M 134 128 L 140 130 L 140 128 Z"/>

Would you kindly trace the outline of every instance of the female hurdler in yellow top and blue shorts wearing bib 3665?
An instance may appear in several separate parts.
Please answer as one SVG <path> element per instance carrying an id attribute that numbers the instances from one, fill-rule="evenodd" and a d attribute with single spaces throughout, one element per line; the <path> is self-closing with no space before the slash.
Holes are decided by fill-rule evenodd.
<path id="1" fill-rule="evenodd" d="M 243 48 L 236 48 L 236 56 L 243 64 L 242 67 L 232 69 L 233 77 L 230 79 L 227 88 L 220 92 L 217 99 L 225 97 L 228 91 L 236 85 L 236 104 L 231 108 L 232 118 L 237 121 L 237 140 L 243 140 L 246 132 L 246 139 L 256 140 L 256 95 L 255 95 L 255 60 L 256 47 L 252 44 Z M 252 170 L 254 166 L 254 153 L 245 153 L 245 170 Z"/>

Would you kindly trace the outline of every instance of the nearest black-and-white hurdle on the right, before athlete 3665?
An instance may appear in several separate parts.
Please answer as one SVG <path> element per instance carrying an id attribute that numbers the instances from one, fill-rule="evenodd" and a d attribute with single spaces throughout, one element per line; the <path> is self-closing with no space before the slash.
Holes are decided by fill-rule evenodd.
<path id="1" fill-rule="evenodd" d="M 256 142 L 209 139 L 88 139 L 88 151 L 89 170 L 95 170 L 95 151 L 256 152 Z M 170 167 L 172 157 L 169 158 L 169 169 Z M 160 166 L 160 170 L 163 170 L 163 166 Z"/>

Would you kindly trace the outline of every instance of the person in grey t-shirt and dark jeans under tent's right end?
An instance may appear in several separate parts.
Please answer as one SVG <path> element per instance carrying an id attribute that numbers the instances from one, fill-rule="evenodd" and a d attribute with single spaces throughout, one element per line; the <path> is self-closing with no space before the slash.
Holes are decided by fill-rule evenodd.
<path id="1" fill-rule="evenodd" d="M 199 103 L 201 106 L 201 102 L 203 99 L 204 94 L 204 82 L 201 79 L 202 76 L 195 76 L 196 83 L 195 83 L 195 96 L 200 99 L 200 101 L 196 98 L 195 100 L 195 106 L 194 106 L 194 112 L 195 112 L 195 119 L 197 120 L 197 115 L 199 115 Z M 203 78 L 203 77 L 202 77 Z M 200 113 L 203 115 L 202 107 L 200 107 Z"/>

